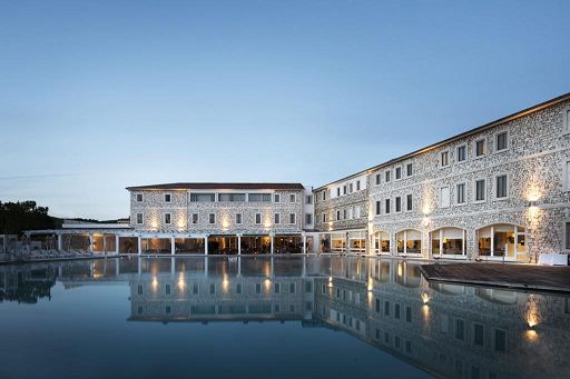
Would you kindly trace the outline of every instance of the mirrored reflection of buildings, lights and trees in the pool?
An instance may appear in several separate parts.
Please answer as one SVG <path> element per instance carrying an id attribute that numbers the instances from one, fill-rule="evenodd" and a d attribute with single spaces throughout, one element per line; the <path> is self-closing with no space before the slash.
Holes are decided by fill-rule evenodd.
<path id="1" fill-rule="evenodd" d="M 0 299 L 48 300 L 56 282 L 128 286 L 128 322 L 297 320 L 341 330 L 440 377 L 564 377 L 570 369 L 568 297 L 429 283 L 410 261 L 210 257 L 0 267 Z"/>

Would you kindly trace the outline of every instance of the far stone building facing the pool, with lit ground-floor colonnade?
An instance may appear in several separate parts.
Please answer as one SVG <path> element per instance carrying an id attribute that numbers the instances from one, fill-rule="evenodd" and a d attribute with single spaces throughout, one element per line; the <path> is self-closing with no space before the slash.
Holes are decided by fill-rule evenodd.
<path id="1" fill-rule="evenodd" d="M 312 189 L 301 183 L 129 187 L 141 252 L 269 253 L 312 248 Z M 308 221 L 308 223 L 307 223 Z"/>

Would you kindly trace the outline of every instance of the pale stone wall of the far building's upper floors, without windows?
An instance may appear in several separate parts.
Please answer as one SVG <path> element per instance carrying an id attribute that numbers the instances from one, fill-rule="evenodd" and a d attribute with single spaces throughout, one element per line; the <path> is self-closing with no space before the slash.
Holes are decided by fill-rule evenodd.
<path id="1" fill-rule="evenodd" d="M 303 191 L 267 191 L 272 193 L 272 202 L 216 201 L 193 202 L 187 190 L 141 190 L 130 193 L 130 223 L 140 231 L 160 232 L 196 232 L 196 233 L 298 233 L 303 230 Z M 213 190 L 212 192 L 216 192 Z M 245 191 L 247 192 L 247 191 Z M 137 195 L 142 193 L 142 201 Z M 256 192 L 257 193 L 257 192 Z M 279 202 L 274 202 L 274 195 L 279 195 Z M 165 201 L 170 195 L 170 202 Z M 294 196 L 295 201 L 292 200 Z M 142 213 L 142 223 L 137 223 L 137 213 Z M 166 215 L 170 213 L 170 223 L 166 223 Z M 256 213 L 261 213 L 261 223 L 256 223 Z M 275 213 L 279 215 L 279 223 L 275 223 Z M 194 223 L 193 215 L 197 215 Z M 214 223 L 210 216 L 214 215 Z M 237 221 L 242 215 L 242 223 Z M 294 222 L 292 216 L 294 216 Z"/>

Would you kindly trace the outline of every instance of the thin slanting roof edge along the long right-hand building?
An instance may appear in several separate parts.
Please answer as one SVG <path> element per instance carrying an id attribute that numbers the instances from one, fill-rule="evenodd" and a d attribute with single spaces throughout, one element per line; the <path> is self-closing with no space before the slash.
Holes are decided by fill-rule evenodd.
<path id="1" fill-rule="evenodd" d="M 459 140 L 461 138 L 465 138 L 465 137 L 470 137 L 472 134 L 475 134 L 475 133 L 479 133 L 481 131 L 484 131 L 487 129 L 491 129 L 493 127 L 497 127 L 497 126 L 500 126 L 500 124 L 503 124 L 505 122 L 509 122 L 509 121 L 512 121 L 512 120 L 517 120 L 521 117 L 524 117 L 524 116 L 528 116 L 530 113 L 533 113 L 533 112 L 538 112 L 544 108 L 548 108 L 548 107 L 551 107 L 551 106 L 554 106 L 559 102 L 562 102 L 562 101 L 567 101 L 567 100 L 570 100 L 570 92 L 568 93 L 564 93 L 562 96 L 559 96 L 559 97 L 556 97 L 553 99 L 550 99 L 550 100 L 547 100 L 544 102 L 541 102 L 537 106 L 532 106 L 530 108 L 527 108 L 527 109 L 523 109 L 519 112 L 515 112 L 515 113 L 512 113 L 512 114 L 509 114 L 509 116 L 505 116 L 503 118 L 500 118 L 498 120 L 494 120 L 494 121 L 491 121 L 489 123 L 485 123 L 485 124 L 482 124 L 480 127 L 476 127 L 474 129 L 471 129 L 471 130 L 468 130 L 468 131 L 464 131 L 460 134 L 456 134 L 456 136 L 453 136 L 453 137 L 450 137 L 448 139 L 444 139 L 443 141 L 440 141 L 440 142 L 435 142 L 435 143 L 432 143 L 430 146 L 426 146 L 425 148 L 421 148 L 421 149 L 417 149 L 415 151 L 412 151 L 410 153 L 406 153 L 404 156 L 401 156 L 401 157 L 397 157 L 397 158 L 394 158 L 394 159 L 391 159 L 389 161 L 385 161 L 383 163 L 380 163 L 380 164 L 376 164 L 374 167 L 371 167 L 371 168 L 367 168 L 365 170 L 362 170 L 362 171 L 358 171 L 356 173 L 353 173 L 353 174 L 350 174 L 347 177 L 344 177 L 344 178 L 341 178 L 341 179 L 337 179 L 337 180 L 334 180 L 334 181 L 331 181 L 326 184 L 323 184 L 318 188 L 315 188 L 315 191 L 318 191 L 318 190 L 322 190 L 322 189 L 325 189 L 326 187 L 331 186 L 331 184 L 335 184 L 335 183 L 338 183 L 341 181 L 344 181 L 344 180 L 348 180 L 348 179 L 352 179 L 352 178 L 356 178 L 361 174 L 364 174 L 364 173 L 372 173 L 372 171 L 375 171 L 377 169 L 381 169 L 383 167 L 387 167 L 390 164 L 393 164 L 393 163 L 396 163 L 396 162 L 400 162 L 400 161 L 403 161 L 405 159 L 410 159 L 410 158 L 413 158 L 417 154 L 421 154 L 421 153 L 424 153 L 424 152 L 428 152 L 430 150 L 433 150 L 433 149 L 436 149 L 439 147 L 442 147 L 446 143 L 450 143 L 450 142 L 453 142 L 455 140 Z"/>

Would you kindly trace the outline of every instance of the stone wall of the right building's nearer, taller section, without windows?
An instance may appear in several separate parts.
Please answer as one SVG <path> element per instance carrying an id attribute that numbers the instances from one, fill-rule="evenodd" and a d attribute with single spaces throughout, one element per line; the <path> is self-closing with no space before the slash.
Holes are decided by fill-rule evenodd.
<path id="1" fill-rule="evenodd" d="M 430 232 L 443 227 L 466 230 L 466 256 L 478 256 L 476 231 L 483 227 L 509 223 L 525 229 L 528 259 L 537 253 L 563 250 L 563 225 L 570 216 L 567 170 L 570 160 L 570 134 L 564 132 L 563 114 L 570 109 L 564 101 L 530 114 L 500 123 L 481 132 L 451 140 L 406 160 L 379 167 L 371 173 L 370 206 L 373 210 L 370 233 L 389 232 L 392 253 L 395 233 L 405 229 L 422 232 L 422 256 L 431 257 Z M 507 148 L 498 151 L 500 133 L 507 132 Z M 485 153 L 475 156 L 478 141 Z M 460 160 L 460 149 L 465 159 Z M 448 164 L 442 164 L 442 156 Z M 413 164 L 413 176 L 394 180 L 397 167 Z M 385 172 L 392 180 L 385 181 Z M 376 174 L 380 184 L 375 183 Z M 497 178 L 507 176 L 507 197 L 498 198 Z M 475 199 L 475 181 L 484 180 L 484 200 Z M 458 191 L 464 184 L 465 199 Z M 449 201 L 448 201 L 449 193 Z M 412 210 L 406 211 L 407 195 Z M 395 211 L 396 198 L 402 211 Z M 391 211 L 386 212 L 386 199 Z M 381 212 L 376 215 L 376 201 Z M 448 203 L 449 202 L 449 203 Z"/>

